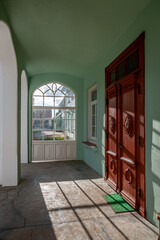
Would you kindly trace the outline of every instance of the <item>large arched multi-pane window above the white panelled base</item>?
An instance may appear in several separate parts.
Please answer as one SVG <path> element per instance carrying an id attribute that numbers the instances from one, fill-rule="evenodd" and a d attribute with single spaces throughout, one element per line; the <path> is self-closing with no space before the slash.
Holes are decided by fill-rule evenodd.
<path id="1" fill-rule="evenodd" d="M 75 140 L 75 94 L 58 83 L 36 89 L 32 101 L 33 141 Z"/>

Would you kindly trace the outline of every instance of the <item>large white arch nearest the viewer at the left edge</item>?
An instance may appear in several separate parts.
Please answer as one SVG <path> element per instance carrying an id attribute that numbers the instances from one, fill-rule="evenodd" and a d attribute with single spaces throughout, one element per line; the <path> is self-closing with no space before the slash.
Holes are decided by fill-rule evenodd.
<path id="1" fill-rule="evenodd" d="M 8 25 L 0 21 L 0 165 L 2 186 L 15 186 L 17 174 L 17 61 Z"/>

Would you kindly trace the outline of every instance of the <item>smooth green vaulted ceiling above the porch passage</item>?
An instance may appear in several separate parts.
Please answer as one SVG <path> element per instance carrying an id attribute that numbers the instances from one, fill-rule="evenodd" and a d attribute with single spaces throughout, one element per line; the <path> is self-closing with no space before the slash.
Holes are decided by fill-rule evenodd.
<path id="1" fill-rule="evenodd" d="M 84 77 L 150 0 L 3 0 L 29 76 Z"/>

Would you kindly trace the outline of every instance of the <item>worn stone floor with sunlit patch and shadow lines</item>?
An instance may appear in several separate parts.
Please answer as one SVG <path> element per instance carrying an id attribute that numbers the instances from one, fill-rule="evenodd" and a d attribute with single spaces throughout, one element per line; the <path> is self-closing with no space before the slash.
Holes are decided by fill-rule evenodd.
<path id="1" fill-rule="evenodd" d="M 154 240 L 158 229 L 137 212 L 115 214 L 114 193 L 83 161 L 22 164 L 22 182 L 0 188 L 0 239 Z"/>

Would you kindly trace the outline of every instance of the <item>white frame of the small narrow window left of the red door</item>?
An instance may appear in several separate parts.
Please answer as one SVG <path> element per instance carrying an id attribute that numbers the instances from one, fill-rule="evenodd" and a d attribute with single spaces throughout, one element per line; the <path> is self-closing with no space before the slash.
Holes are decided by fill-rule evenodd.
<path id="1" fill-rule="evenodd" d="M 88 90 L 88 141 L 91 143 L 96 144 L 97 140 L 97 99 L 92 101 L 92 92 L 97 90 L 97 84 L 93 85 L 89 90 Z M 96 106 L 96 119 L 95 119 L 95 132 L 96 132 L 96 137 L 92 136 L 92 106 Z"/>

